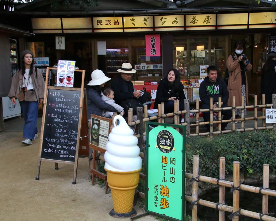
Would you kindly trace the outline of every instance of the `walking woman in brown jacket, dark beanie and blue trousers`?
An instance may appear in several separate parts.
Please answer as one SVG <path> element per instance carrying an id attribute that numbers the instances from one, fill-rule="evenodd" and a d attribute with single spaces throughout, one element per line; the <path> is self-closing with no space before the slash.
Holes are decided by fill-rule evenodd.
<path id="1" fill-rule="evenodd" d="M 31 145 L 32 140 L 38 137 L 36 128 L 38 104 L 44 99 L 44 79 L 40 70 L 33 66 L 33 52 L 25 50 L 21 53 L 21 69 L 17 71 L 12 79 L 8 97 L 16 104 L 19 99 L 24 116 L 23 144 Z"/>

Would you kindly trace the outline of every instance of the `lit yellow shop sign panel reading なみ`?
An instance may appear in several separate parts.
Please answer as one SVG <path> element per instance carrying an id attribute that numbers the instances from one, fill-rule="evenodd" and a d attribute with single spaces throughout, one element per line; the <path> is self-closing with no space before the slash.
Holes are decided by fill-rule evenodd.
<path id="1" fill-rule="evenodd" d="M 184 26 L 185 15 L 161 15 L 154 16 L 155 27 L 179 27 Z"/>

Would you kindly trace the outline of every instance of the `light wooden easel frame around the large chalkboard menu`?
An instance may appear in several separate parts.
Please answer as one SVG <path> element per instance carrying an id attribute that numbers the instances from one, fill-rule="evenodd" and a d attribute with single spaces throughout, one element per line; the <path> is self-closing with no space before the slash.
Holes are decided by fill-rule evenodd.
<path id="1" fill-rule="evenodd" d="M 49 68 L 49 67 L 47 67 L 46 82 L 48 81 L 49 70 L 50 69 L 57 70 L 57 68 Z M 77 169 L 78 169 L 78 159 L 79 159 L 79 144 L 80 144 L 80 139 L 82 139 L 82 137 L 80 136 L 80 134 L 81 134 L 81 129 L 82 129 L 83 103 L 84 103 L 84 101 L 86 101 L 86 98 L 85 98 L 85 92 L 84 92 L 84 74 L 85 74 L 85 70 L 77 70 L 77 69 L 75 69 L 75 72 L 82 72 L 82 84 L 81 84 L 82 87 L 81 88 L 55 87 L 55 86 L 45 85 L 44 102 L 43 102 L 44 108 L 43 108 L 43 115 L 42 115 L 42 125 L 41 125 L 41 133 L 40 133 L 40 146 L 39 146 L 39 154 L 38 154 L 36 180 L 39 180 L 41 161 L 48 161 L 48 162 L 54 162 L 55 163 L 55 169 L 59 169 L 58 168 L 58 163 L 73 164 L 74 165 L 74 176 L 73 176 L 73 182 L 72 182 L 72 184 L 76 184 Z M 47 99 L 48 99 L 48 96 L 47 96 L 48 95 L 48 89 L 58 89 L 58 90 L 67 90 L 67 91 L 81 91 L 81 94 L 80 94 L 80 104 L 79 104 L 79 108 L 80 108 L 80 110 L 79 110 L 79 125 L 78 125 L 78 136 L 77 136 L 77 142 L 76 142 L 75 161 L 53 160 L 53 159 L 47 159 L 47 158 L 42 158 L 41 157 L 43 135 L 44 135 L 44 125 L 45 125 L 45 114 L 46 114 L 46 106 L 47 106 L 46 103 L 47 103 Z M 84 107 L 86 107 L 86 105 Z M 87 122 L 87 120 L 86 120 L 86 122 Z M 87 135 L 85 134 L 83 137 L 85 137 L 85 136 L 87 136 Z"/>

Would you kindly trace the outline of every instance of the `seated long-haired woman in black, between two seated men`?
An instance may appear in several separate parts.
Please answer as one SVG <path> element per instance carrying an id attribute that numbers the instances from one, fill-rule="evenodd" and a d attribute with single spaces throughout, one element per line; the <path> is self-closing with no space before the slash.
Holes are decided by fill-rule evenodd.
<path id="1" fill-rule="evenodd" d="M 164 102 L 165 114 L 172 113 L 174 112 L 174 101 L 179 100 L 179 110 L 183 111 L 184 99 L 186 99 L 183 89 L 178 70 L 170 69 L 167 76 L 158 84 L 154 108 L 158 109 L 158 104 Z"/>

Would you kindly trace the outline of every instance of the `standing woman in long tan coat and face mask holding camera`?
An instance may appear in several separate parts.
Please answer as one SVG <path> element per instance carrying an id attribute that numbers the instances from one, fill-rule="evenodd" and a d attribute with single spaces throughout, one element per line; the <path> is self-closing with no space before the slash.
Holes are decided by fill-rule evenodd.
<path id="1" fill-rule="evenodd" d="M 248 104 L 248 83 L 247 74 L 252 70 L 252 65 L 245 55 L 243 55 L 244 45 L 242 41 L 234 43 L 235 52 L 227 59 L 226 65 L 229 71 L 228 86 L 229 99 L 228 106 L 232 106 L 232 99 L 236 97 L 236 106 L 243 106 Z M 233 57 L 235 59 L 233 60 Z M 241 96 L 244 96 L 244 103 L 241 103 Z M 236 110 L 236 118 L 240 118 L 241 109 Z M 246 109 L 244 109 L 246 114 Z M 238 122 L 236 122 L 238 123 Z"/>

